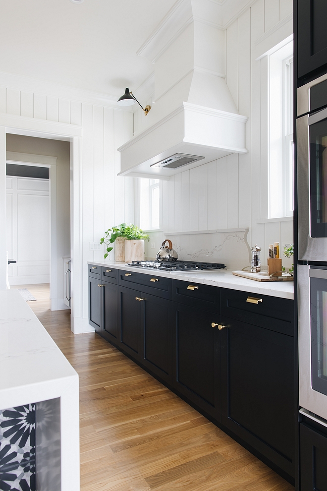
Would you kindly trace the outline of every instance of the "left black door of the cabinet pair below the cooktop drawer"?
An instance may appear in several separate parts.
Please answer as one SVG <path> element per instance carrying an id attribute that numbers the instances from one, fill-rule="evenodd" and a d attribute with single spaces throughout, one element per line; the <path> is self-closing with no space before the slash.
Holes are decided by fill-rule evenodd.
<path id="1" fill-rule="evenodd" d="M 119 346 L 137 361 L 141 359 L 140 302 L 141 292 L 119 287 Z"/>

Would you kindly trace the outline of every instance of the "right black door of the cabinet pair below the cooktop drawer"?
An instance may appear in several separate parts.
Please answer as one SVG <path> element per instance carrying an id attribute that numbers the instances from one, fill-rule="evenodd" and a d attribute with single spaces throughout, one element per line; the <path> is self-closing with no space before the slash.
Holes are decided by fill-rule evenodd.
<path id="1" fill-rule="evenodd" d="M 141 293 L 142 365 L 172 382 L 171 301 Z"/>

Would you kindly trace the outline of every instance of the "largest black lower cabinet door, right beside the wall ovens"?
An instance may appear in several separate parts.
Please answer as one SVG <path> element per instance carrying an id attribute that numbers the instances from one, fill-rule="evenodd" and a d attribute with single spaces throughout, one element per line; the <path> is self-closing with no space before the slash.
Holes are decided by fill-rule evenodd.
<path id="1" fill-rule="evenodd" d="M 221 324 L 221 422 L 292 481 L 294 339 L 277 321 L 275 330 L 224 316 Z"/>

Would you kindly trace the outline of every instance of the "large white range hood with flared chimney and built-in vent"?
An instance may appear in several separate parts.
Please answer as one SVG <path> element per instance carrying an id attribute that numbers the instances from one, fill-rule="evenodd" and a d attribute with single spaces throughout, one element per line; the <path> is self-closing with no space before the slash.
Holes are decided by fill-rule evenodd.
<path id="1" fill-rule="evenodd" d="M 138 51 L 155 64 L 155 103 L 142 129 L 118 148 L 118 175 L 169 179 L 247 153 L 248 118 L 238 114 L 225 82 L 219 15 L 211 0 L 180 0 Z"/>

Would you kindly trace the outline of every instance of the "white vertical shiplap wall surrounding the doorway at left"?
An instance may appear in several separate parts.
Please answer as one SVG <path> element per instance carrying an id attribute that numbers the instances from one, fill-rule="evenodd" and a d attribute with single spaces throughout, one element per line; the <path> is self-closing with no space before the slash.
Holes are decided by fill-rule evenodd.
<path id="1" fill-rule="evenodd" d="M 117 176 L 116 150 L 133 135 L 133 114 L 0 85 L 1 112 L 82 126 L 83 316 L 87 318 L 87 261 L 103 260 L 104 253 L 91 251 L 90 242 L 99 242 L 112 225 L 134 220 L 134 179 Z"/>

